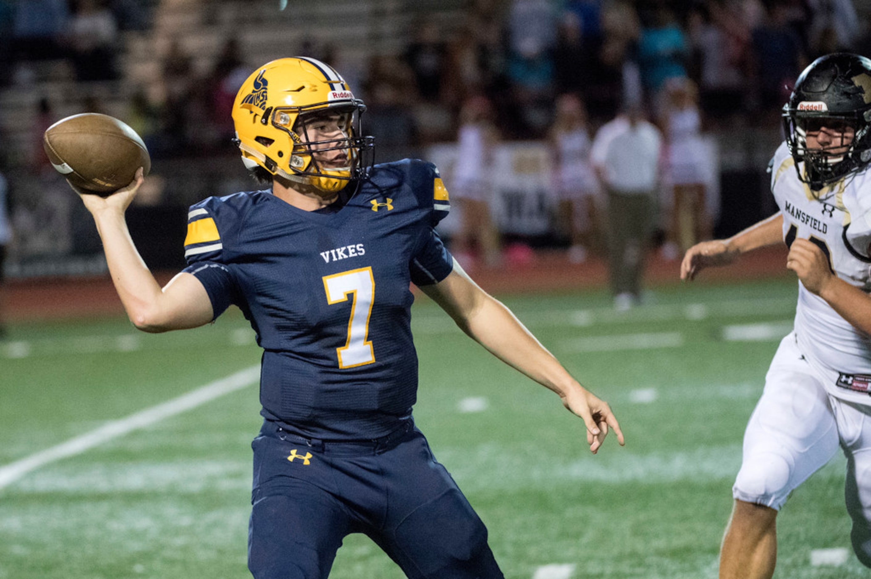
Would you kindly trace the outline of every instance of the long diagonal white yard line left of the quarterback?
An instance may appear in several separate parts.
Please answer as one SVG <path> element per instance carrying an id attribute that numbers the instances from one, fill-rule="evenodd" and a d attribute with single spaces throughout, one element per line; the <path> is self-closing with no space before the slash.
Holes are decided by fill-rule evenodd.
<path id="1" fill-rule="evenodd" d="M 111 421 L 91 432 L 81 434 L 55 447 L 46 448 L 35 454 L 30 454 L 20 461 L 15 461 L 0 467 L 0 488 L 8 487 L 12 482 L 32 470 L 36 470 L 50 462 L 82 454 L 89 450 L 137 430 L 145 428 L 170 416 L 192 410 L 208 401 L 213 401 L 225 394 L 253 384 L 260 376 L 260 366 L 247 367 L 236 374 L 215 380 L 171 401 L 165 401 L 157 406 L 145 408 L 118 421 Z"/>

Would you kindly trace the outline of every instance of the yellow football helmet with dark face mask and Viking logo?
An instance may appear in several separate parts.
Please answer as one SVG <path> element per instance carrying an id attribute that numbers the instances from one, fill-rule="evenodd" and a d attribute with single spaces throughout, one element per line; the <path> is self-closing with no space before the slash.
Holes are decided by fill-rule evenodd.
<path id="1" fill-rule="evenodd" d="M 374 139 L 358 137 L 365 110 L 363 101 L 354 98 L 345 80 L 328 64 L 309 57 L 273 60 L 247 77 L 233 102 L 242 162 L 252 171 L 260 166 L 294 183 L 339 192 L 371 165 L 364 166 L 362 156 L 373 148 Z M 310 141 L 306 118 L 325 112 L 338 113 L 341 137 Z M 318 165 L 313 153 L 336 150 L 346 152 L 347 165 Z"/>

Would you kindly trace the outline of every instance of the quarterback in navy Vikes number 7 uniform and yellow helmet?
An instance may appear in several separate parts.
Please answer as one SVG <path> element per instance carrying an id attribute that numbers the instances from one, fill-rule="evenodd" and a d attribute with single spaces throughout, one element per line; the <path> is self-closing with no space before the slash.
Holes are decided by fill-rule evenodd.
<path id="1" fill-rule="evenodd" d="M 258 578 L 327 577 L 342 538 L 365 533 L 408 577 L 502 577 L 487 529 L 415 428 L 415 284 L 465 333 L 557 393 L 593 453 L 607 403 L 571 377 L 499 301 L 469 279 L 434 227 L 449 211 L 434 165 L 372 166 L 372 138 L 342 77 L 282 58 L 233 105 L 246 167 L 266 187 L 213 197 L 188 215 L 189 266 L 161 289 L 125 208 L 142 183 L 82 195 L 132 322 L 199 327 L 239 306 L 263 348 L 263 427 L 253 441 L 248 567 Z"/>

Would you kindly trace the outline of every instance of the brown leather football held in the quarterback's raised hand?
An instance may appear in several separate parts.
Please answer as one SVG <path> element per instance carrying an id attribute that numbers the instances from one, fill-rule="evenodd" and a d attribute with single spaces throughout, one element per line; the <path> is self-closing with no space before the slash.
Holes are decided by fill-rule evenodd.
<path id="1" fill-rule="evenodd" d="M 72 185 L 108 195 L 128 185 L 152 159 L 142 138 L 117 118 L 84 112 L 62 118 L 45 130 L 43 148 L 51 165 Z"/>

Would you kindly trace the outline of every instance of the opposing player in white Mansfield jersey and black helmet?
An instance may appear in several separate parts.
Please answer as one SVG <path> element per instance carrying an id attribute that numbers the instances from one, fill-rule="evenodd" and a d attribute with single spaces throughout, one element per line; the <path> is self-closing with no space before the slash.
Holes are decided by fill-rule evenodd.
<path id="1" fill-rule="evenodd" d="M 785 241 L 787 268 L 799 278 L 793 332 L 747 424 L 721 579 L 773 576 L 778 511 L 839 446 L 853 549 L 871 567 L 871 60 L 815 60 L 783 119 L 786 141 L 769 165 L 780 211 L 732 238 L 692 246 L 680 269 L 681 279 L 693 279 Z"/>

